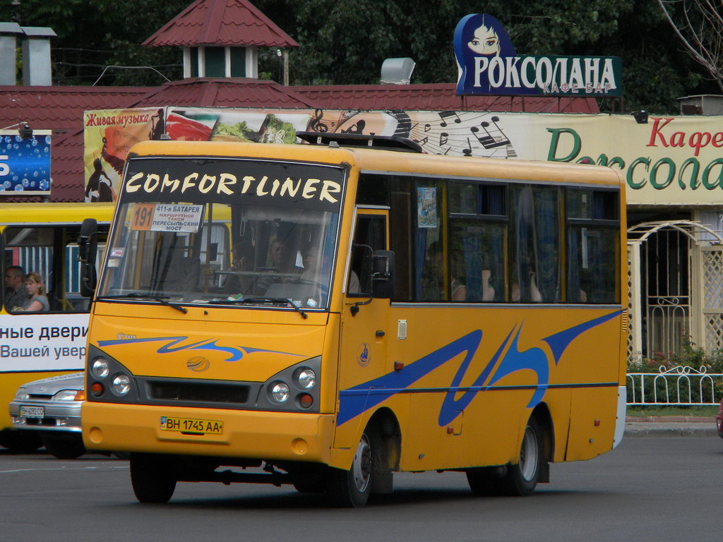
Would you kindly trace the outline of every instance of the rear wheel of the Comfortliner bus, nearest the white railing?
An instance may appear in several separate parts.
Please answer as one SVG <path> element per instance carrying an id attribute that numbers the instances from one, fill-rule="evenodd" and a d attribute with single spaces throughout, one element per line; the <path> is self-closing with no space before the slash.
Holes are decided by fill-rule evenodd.
<path id="1" fill-rule="evenodd" d="M 542 429 L 532 417 L 525 427 L 518 462 L 507 465 L 507 473 L 498 481 L 501 493 L 512 496 L 531 494 L 537 486 L 545 460 Z"/>

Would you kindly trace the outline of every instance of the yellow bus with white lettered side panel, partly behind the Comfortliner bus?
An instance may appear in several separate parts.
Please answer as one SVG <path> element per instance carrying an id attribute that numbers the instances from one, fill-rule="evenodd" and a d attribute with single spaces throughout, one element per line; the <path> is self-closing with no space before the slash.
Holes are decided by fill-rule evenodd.
<path id="1" fill-rule="evenodd" d="M 38 431 L 14 429 L 7 405 L 21 384 L 85 368 L 88 300 L 81 295 L 77 238 L 86 217 L 98 222 L 104 242 L 112 204 L 0 203 L 0 249 L 4 285 L 0 298 L 0 446 L 14 452 L 37 449 Z M 11 293 L 25 292 L 23 275 L 37 272 L 48 311 L 24 312 Z M 22 296 L 21 296 L 22 298 Z M 25 423 L 49 423 L 36 409 Z M 55 420 L 54 420 L 55 423 Z"/>

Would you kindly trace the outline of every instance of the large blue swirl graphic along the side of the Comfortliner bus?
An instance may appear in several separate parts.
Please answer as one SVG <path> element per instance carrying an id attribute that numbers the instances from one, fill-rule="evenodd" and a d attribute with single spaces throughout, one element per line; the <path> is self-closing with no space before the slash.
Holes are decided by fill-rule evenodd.
<path id="1" fill-rule="evenodd" d="M 621 312 L 615 311 L 605 314 L 602 317 L 583 322 L 549 337 L 544 337 L 542 341 L 547 343 L 550 350 L 552 350 L 552 361 L 555 366 L 560 363 L 562 353 L 565 352 L 565 349 L 573 340 L 593 327 L 618 316 Z M 394 371 L 369 380 L 369 382 L 342 390 L 339 393 L 338 425 L 341 426 L 393 395 L 407 392 L 411 384 L 461 354 L 464 354 L 464 358 L 450 383 L 450 387 L 429 390 L 445 392 L 438 419 L 440 426 L 445 426 L 454 421 L 479 392 L 489 390 L 500 379 L 517 371 L 533 371 L 536 374 L 537 384 L 534 386 L 534 393 L 527 404 L 528 408 L 534 408 L 542 401 L 542 397 L 547 392 L 550 366 L 547 355 L 542 348 L 519 349 L 518 340 L 522 329 L 523 324 L 515 324 L 515 327 L 502 340 L 500 347 L 497 348 L 495 354 L 492 355 L 492 358 L 490 358 L 471 386 L 462 387 L 461 382 L 479 345 L 482 344 L 482 330 L 474 330 L 452 343 L 442 346 L 442 348 L 427 354 L 427 356 L 408 364 L 401 371 Z M 462 394 L 461 397 L 455 399 L 455 396 L 460 393 Z"/>

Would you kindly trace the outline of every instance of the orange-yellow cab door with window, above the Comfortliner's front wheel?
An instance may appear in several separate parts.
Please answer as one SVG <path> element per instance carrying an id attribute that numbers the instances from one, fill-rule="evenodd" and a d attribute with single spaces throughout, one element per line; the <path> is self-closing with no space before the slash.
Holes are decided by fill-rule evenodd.
<path id="1" fill-rule="evenodd" d="M 372 252 L 388 249 L 388 213 L 385 208 L 357 207 L 353 241 L 347 251 L 338 372 L 340 412 L 334 442 L 339 448 L 356 447 L 369 395 L 384 393 L 378 384 L 369 384 L 364 397 L 356 395 L 353 400 L 344 391 L 364 387 L 393 371 L 387 356 L 390 300 L 372 299 Z"/>

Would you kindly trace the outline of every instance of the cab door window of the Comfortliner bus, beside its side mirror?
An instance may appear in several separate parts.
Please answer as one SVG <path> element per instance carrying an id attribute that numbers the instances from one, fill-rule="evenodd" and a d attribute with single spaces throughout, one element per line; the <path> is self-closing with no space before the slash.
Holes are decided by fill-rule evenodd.
<path id="1" fill-rule="evenodd" d="M 372 251 L 387 249 L 387 219 L 385 215 L 359 215 L 354 229 L 354 244 L 349 262 L 349 294 L 369 295 L 372 292 Z"/>

